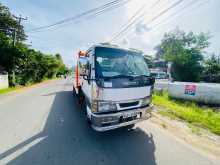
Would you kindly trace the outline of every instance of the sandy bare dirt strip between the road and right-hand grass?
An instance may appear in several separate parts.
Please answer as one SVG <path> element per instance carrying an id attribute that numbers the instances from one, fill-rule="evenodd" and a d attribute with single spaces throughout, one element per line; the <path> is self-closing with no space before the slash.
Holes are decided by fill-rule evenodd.
<path id="1" fill-rule="evenodd" d="M 206 155 L 220 160 L 220 136 L 184 121 L 161 116 L 155 111 L 152 112 L 150 121 Z"/>

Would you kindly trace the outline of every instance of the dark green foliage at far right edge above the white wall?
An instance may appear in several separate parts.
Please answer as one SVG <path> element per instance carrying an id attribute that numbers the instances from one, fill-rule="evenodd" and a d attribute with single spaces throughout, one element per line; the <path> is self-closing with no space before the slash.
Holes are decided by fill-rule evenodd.
<path id="1" fill-rule="evenodd" d="M 204 63 L 203 80 L 220 83 L 220 55 L 213 54 Z"/>

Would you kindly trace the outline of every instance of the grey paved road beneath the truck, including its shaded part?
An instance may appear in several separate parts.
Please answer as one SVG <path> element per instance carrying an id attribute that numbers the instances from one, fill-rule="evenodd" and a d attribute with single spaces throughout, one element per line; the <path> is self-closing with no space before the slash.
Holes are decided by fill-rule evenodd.
<path id="1" fill-rule="evenodd" d="M 57 80 L 0 97 L 0 164 L 219 165 L 149 121 L 134 130 L 93 131 Z"/>

